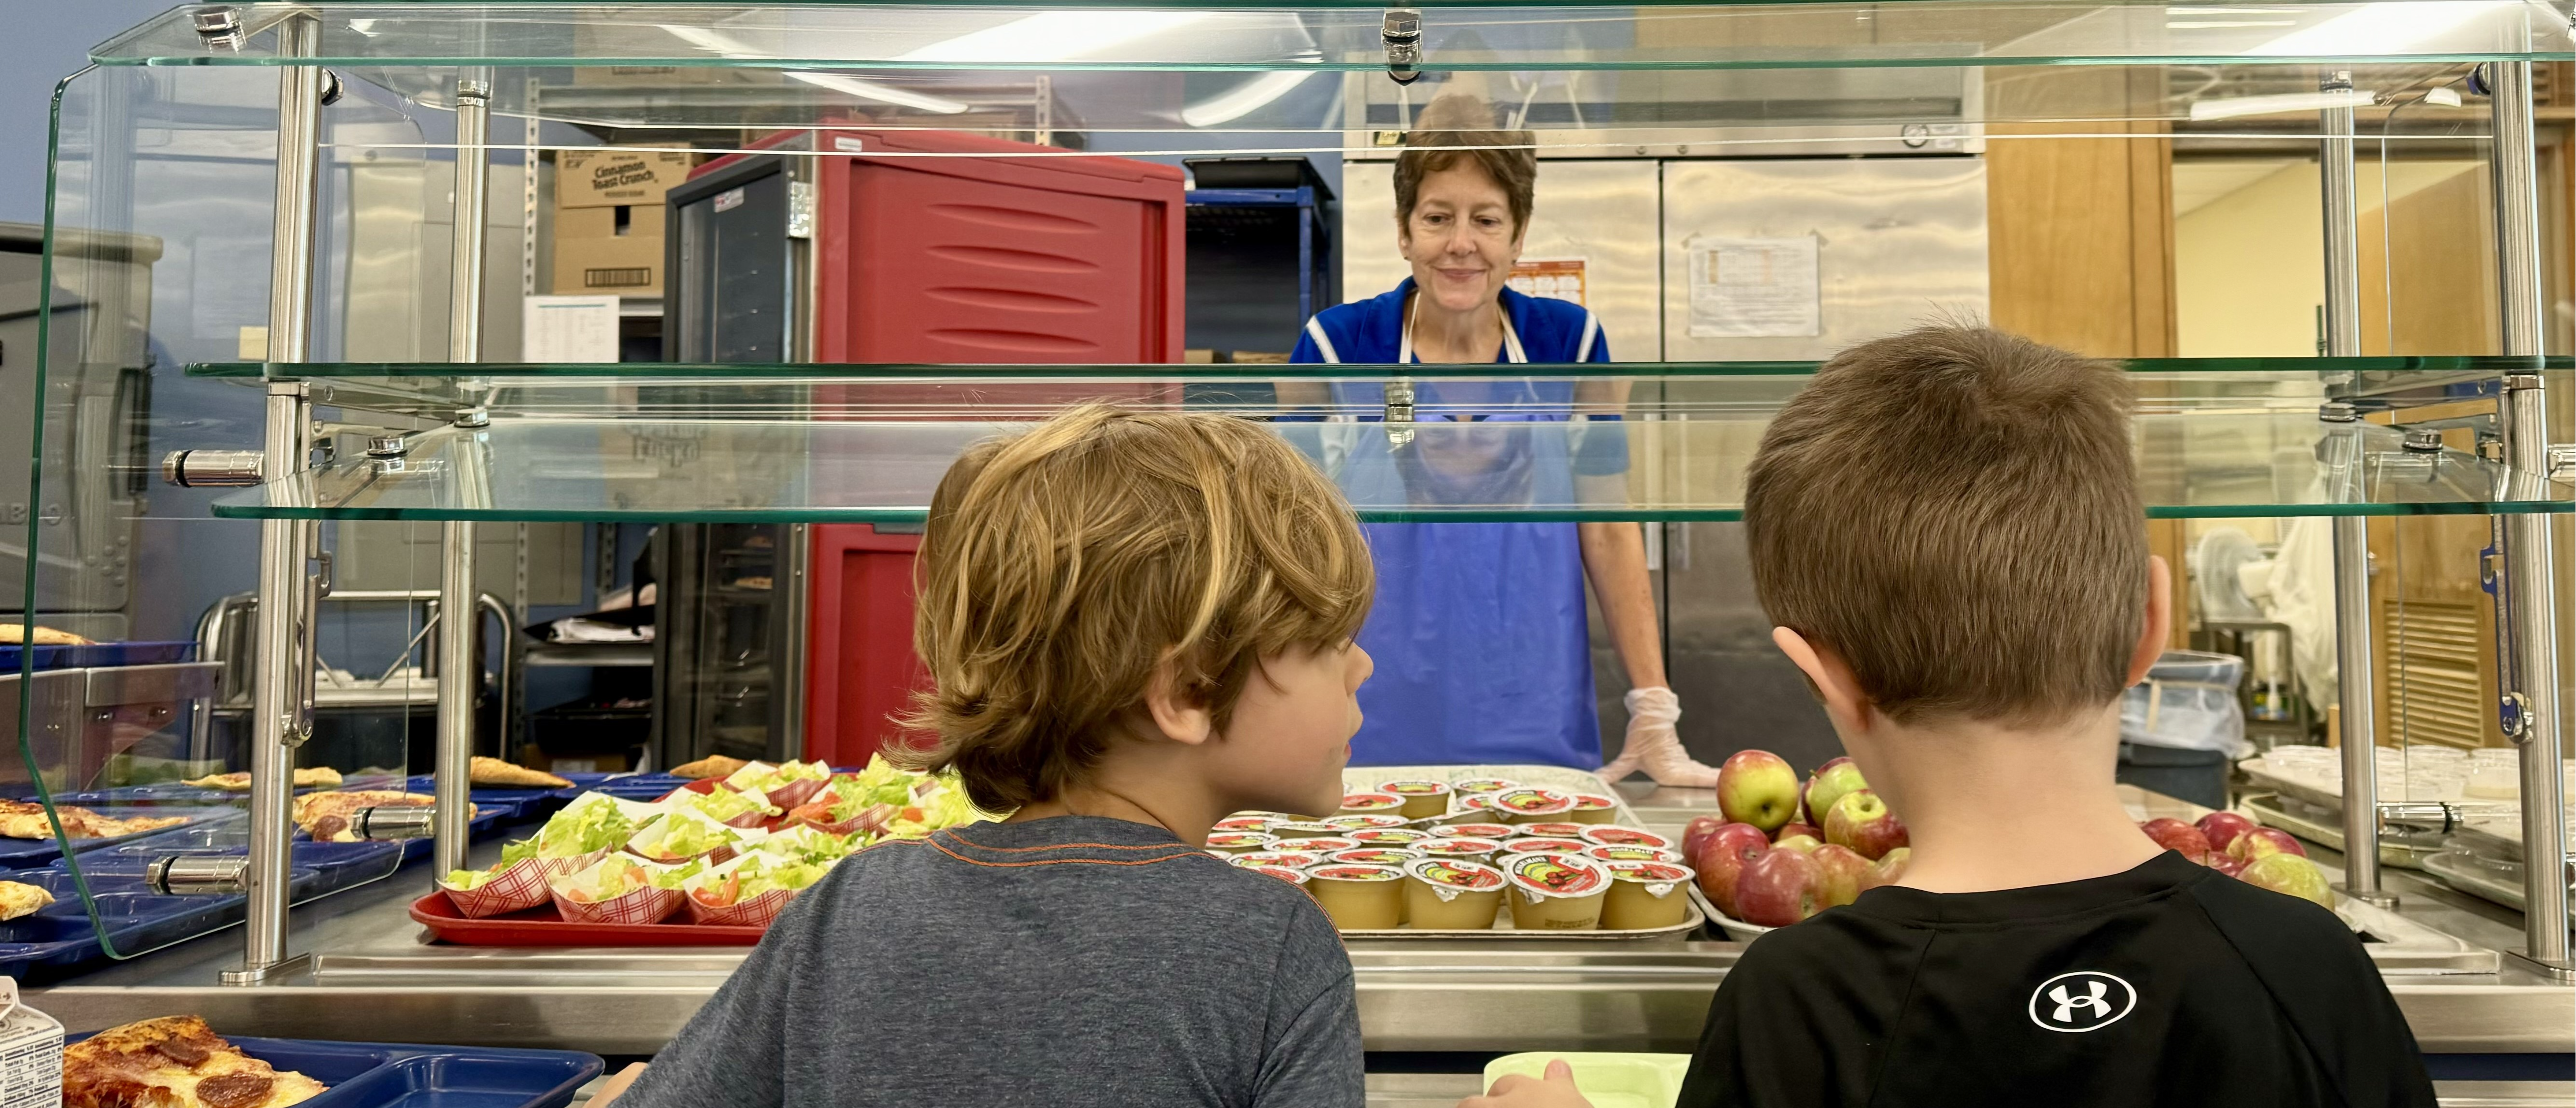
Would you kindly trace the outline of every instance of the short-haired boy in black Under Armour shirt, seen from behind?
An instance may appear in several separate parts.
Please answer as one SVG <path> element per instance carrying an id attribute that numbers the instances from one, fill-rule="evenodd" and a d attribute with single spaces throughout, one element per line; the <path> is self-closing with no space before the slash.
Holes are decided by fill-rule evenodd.
<path id="1" fill-rule="evenodd" d="M 2434 1103 L 2331 912 L 2164 853 L 2112 788 L 2172 618 L 2133 466 L 2120 371 L 1984 327 L 1850 348 L 1772 420 L 1754 587 L 1914 861 L 1744 951 L 1685 1108 Z"/>

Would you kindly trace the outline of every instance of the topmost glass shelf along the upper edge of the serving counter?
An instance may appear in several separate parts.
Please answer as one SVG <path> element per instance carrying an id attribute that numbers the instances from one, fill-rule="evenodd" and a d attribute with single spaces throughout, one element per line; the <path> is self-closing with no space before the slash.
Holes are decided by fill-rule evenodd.
<path id="1" fill-rule="evenodd" d="M 811 70 L 1355 70 L 1386 67 L 1383 3 L 1115 5 L 319 5 L 312 57 L 278 57 L 301 5 L 245 5 L 237 49 L 173 8 L 98 64 L 528 64 Z M 1103 18 L 1115 13 L 1115 18 Z M 1855 33 L 1855 26 L 1862 28 Z M 2563 3 L 1767 3 L 1425 8 L 1425 70 L 1726 70 L 2105 62 L 2563 57 Z"/>

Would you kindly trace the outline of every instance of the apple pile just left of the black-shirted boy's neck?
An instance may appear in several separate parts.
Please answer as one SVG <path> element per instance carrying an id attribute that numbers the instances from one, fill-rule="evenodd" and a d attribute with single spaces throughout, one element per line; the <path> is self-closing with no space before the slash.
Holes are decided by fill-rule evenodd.
<path id="1" fill-rule="evenodd" d="M 1798 770 L 1770 750 L 1718 765 L 1721 817 L 1682 830 L 1682 853 L 1718 912 L 1785 928 L 1862 892 L 1893 884 L 1914 853 L 1906 825 L 1860 778 L 1850 758 Z"/>

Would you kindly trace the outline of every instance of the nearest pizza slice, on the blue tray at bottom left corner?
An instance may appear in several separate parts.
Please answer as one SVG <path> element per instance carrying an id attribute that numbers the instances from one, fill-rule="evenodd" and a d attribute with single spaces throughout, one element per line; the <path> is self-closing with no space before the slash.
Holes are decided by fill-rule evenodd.
<path id="1" fill-rule="evenodd" d="M 100 1031 L 62 1051 L 62 1108 L 283 1108 L 327 1093 L 227 1044 L 196 1015 Z"/>

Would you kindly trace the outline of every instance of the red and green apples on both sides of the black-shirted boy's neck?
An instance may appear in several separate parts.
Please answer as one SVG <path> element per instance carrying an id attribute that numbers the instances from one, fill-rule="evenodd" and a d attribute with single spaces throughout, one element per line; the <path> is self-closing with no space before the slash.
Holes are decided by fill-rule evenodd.
<path id="1" fill-rule="evenodd" d="M 1801 783 L 1780 755 L 1741 750 L 1718 768 L 1718 812 L 1682 830 L 1682 855 L 1700 874 L 1708 917 L 1741 941 L 1896 884 L 1914 855 L 1904 819 L 1850 758 Z M 2138 830 L 2200 866 L 2334 910 L 2334 889 L 2308 850 L 2239 812 L 2210 812 L 2197 825 L 2146 819 Z"/>

